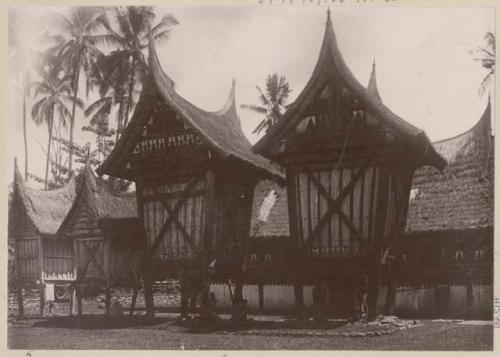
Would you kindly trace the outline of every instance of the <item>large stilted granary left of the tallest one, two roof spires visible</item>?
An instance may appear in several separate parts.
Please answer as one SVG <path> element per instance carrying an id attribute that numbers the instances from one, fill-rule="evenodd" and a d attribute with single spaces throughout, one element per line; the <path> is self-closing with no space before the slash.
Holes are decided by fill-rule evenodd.
<path id="1" fill-rule="evenodd" d="M 168 277 L 181 278 L 183 307 L 186 295 L 198 293 L 206 307 L 212 278 L 239 282 L 234 296 L 242 303 L 254 187 L 264 178 L 282 180 L 282 174 L 252 152 L 236 112 L 234 83 L 222 109 L 208 112 L 175 91 L 154 41 L 149 70 L 130 124 L 97 170 L 136 183 L 149 254 L 148 314 L 152 281 Z"/>

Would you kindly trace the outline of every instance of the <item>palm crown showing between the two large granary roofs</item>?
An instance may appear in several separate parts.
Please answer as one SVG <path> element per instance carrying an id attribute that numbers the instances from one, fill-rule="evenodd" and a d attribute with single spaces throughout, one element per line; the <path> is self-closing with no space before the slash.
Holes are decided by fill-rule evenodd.
<path id="1" fill-rule="evenodd" d="M 252 133 L 260 134 L 263 130 L 267 133 L 283 114 L 286 101 L 292 90 L 286 78 L 284 76 L 278 77 L 276 73 L 267 76 L 266 93 L 259 86 L 256 87 L 259 91 L 261 105 L 242 104 L 241 108 L 265 115 Z"/>

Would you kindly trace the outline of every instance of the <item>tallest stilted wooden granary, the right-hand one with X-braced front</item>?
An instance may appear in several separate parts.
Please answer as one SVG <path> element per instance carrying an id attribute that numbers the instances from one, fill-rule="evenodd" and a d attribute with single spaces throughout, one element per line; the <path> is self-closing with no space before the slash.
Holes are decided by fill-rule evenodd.
<path id="1" fill-rule="evenodd" d="M 350 296 L 367 296 L 374 318 L 404 231 L 413 172 L 446 162 L 422 130 L 353 76 L 329 11 L 311 78 L 254 151 L 286 169 L 298 309 L 301 286 L 314 284 L 319 305 L 328 291 L 348 301 L 343 311 L 354 305 Z"/>

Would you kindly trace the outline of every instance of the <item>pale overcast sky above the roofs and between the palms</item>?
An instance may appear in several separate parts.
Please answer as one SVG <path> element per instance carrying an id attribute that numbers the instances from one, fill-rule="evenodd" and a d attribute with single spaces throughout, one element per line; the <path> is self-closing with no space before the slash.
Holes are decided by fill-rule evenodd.
<path id="1" fill-rule="evenodd" d="M 43 10 L 23 10 L 32 24 L 28 37 L 47 25 Z M 163 69 L 182 96 L 206 110 L 224 104 L 233 78 L 238 105 L 258 104 L 255 86 L 264 86 L 274 72 L 290 82 L 293 101 L 312 73 L 326 20 L 325 7 L 169 6 L 156 12 L 158 18 L 171 13 L 180 22 L 171 39 L 157 45 Z M 367 84 L 375 58 L 384 103 L 432 141 L 459 134 L 480 118 L 487 95 L 479 97 L 478 88 L 486 70 L 469 52 L 483 44 L 485 32 L 495 32 L 493 8 L 333 8 L 332 21 L 357 79 Z M 17 156 L 22 169 L 20 109 L 20 97 L 12 90 L 9 160 Z M 239 114 L 245 134 L 255 142 L 251 132 L 260 117 L 243 109 Z M 92 140 L 80 133 L 86 124 L 80 114 L 75 130 L 80 144 Z M 40 145 L 46 146 L 47 130 L 31 120 L 28 130 L 30 171 L 43 176 Z"/>

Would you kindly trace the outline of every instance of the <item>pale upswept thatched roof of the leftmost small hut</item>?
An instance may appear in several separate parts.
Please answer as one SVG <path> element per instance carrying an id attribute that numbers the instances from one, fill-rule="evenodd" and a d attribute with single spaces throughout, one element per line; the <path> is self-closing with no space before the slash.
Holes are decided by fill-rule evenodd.
<path id="1" fill-rule="evenodd" d="M 24 182 L 17 162 L 14 166 L 14 200 L 19 200 L 19 207 L 26 212 L 39 234 L 55 235 L 76 196 L 75 180 L 71 179 L 64 187 L 55 190 L 34 189 Z"/>

